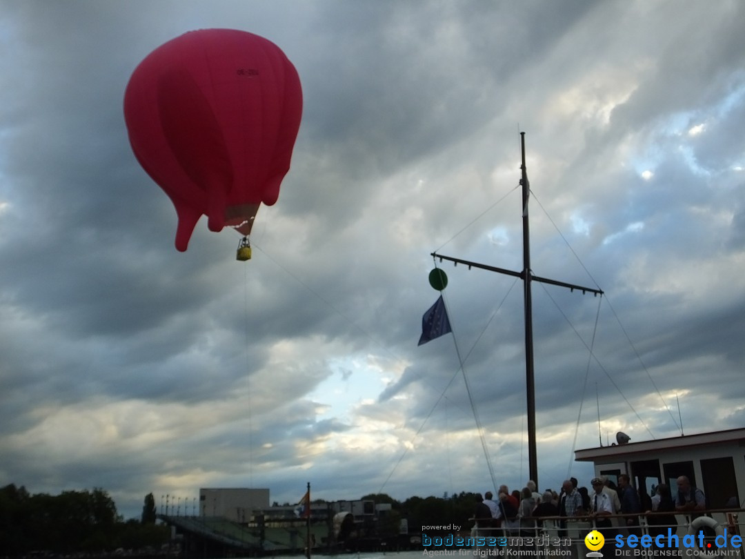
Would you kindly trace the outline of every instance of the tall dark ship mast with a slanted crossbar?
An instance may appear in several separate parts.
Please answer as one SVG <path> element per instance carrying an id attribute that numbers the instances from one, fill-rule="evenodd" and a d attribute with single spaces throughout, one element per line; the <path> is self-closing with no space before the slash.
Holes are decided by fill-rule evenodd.
<path id="1" fill-rule="evenodd" d="M 534 276 L 530 271 L 530 220 L 528 216 L 528 200 L 530 198 L 530 183 L 527 180 L 527 167 L 525 166 L 525 133 L 520 133 L 520 145 L 522 151 L 522 177 L 520 178 L 520 185 L 522 186 L 522 271 L 516 272 L 511 270 L 504 270 L 504 268 L 496 268 L 494 266 L 487 266 L 479 264 L 478 262 L 469 262 L 459 258 L 453 258 L 452 256 L 444 256 L 442 254 L 431 253 L 431 256 L 439 258 L 440 262 L 448 260 L 454 262 L 454 264 L 465 264 L 469 268 L 481 268 L 483 270 L 489 270 L 497 272 L 498 274 L 507 274 L 508 276 L 519 277 L 523 280 L 524 285 L 524 312 L 525 312 L 525 388 L 527 396 L 527 452 L 528 452 L 528 467 L 530 470 L 530 479 L 538 484 L 538 456 L 536 450 L 536 382 L 535 382 L 535 369 L 533 366 L 533 298 L 531 297 L 530 284 L 532 282 L 550 283 L 551 285 L 559 285 L 561 287 L 569 288 L 572 291 L 577 289 L 582 291 L 583 294 L 590 292 L 595 295 L 602 295 L 603 291 L 600 289 L 594 289 L 589 287 L 583 287 L 582 285 L 574 285 L 572 283 L 559 282 L 555 279 L 548 279 L 544 277 Z"/>

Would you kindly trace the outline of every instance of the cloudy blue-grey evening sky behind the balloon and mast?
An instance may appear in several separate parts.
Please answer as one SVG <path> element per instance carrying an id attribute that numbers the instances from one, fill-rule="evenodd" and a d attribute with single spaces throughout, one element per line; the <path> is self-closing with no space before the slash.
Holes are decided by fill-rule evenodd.
<path id="1" fill-rule="evenodd" d="M 539 485 L 573 450 L 745 423 L 745 4 L 0 0 L 0 484 L 397 499 L 527 480 L 526 133 Z M 137 64 L 197 28 L 276 42 L 304 94 L 254 257 L 186 253 L 136 162 Z M 597 319 L 597 329 L 595 323 Z M 595 357 L 588 347 L 592 346 Z M 596 399 L 597 394 L 597 399 Z M 581 414 L 580 414 L 581 408 Z M 418 435 L 417 435 L 418 433 Z"/>

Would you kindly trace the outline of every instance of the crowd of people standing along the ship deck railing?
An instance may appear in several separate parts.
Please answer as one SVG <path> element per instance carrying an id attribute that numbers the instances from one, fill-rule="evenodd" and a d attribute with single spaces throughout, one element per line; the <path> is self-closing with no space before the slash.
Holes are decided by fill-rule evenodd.
<path id="1" fill-rule="evenodd" d="M 626 474 L 618 476 L 617 485 L 605 476 L 593 478 L 592 490 L 577 487 L 575 478 L 567 479 L 559 493 L 538 493 L 532 480 L 522 491 L 510 492 L 507 485 L 501 485 L 496 499 L 491 491 L 483 496 L 476 494 L 475 528 L 480 535 L 530 537 L 542 525 L 542 519 L 553 517 L 558 521 L 561 537 L 566 533 L 567 519 L 590 519 L 602 532 L 612 526 L 611 517 L 627 515 L 618 517 L 616 525 L 625 526 L 629 534 L 641 535 L 639 515 L 646 513 L 648 532 L 654 537 L 667 534 L 668 527 L 676 525 L 676 513 L 695 517 L 697 511 L 706 509 L 703 491 L 693 487 L 686 476 L 680 476 L 676 484 L 675 496 L 671 487 L 663 483 L 653 487 L 653 496 L 644 491 L 640 494 Z"/>

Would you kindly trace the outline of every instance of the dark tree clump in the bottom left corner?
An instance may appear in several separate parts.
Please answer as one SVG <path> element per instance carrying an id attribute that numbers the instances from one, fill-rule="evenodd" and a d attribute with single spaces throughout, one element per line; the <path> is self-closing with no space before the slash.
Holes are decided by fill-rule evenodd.
<path id="1" fill-rule="evenodd" d="M 100 488 L 63 491 L 59 495 L 28 493 L 15 484 L 0 487 L 2 555 L 34 551 L 69 554 L 114 549 L 159 549 L 168 543 L 168 526 L 156 525 L 153 494 L 145 496 L 142 519 L 117 514 L 109 494 Z"/>

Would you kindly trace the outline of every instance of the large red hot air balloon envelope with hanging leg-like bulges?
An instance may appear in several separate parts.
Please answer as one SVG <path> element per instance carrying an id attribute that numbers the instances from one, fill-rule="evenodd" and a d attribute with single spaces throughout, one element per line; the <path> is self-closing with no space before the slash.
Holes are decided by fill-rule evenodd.
<path id="1" fill-rule="evenodd" d="M 137 160 L 176 206 L 176 248 L 207 215 L 247 236 L 276 202 L 302 113 L 300 80 L 273 42 L 204 29 L 166 42 L 137 66 L 124 120 Z"/>

